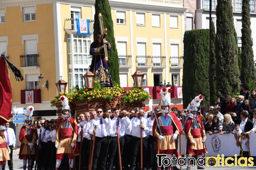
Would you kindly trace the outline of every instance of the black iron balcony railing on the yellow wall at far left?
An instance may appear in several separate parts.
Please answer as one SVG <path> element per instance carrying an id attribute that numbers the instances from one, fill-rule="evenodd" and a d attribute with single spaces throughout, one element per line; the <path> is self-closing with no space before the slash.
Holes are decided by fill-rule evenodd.
<path id="1" fill-rule="evenodd" d="M 38 57 L 39 57 L 38 54 L 20 55 L 20 66 L 21 67 L 39 66 Z"/>

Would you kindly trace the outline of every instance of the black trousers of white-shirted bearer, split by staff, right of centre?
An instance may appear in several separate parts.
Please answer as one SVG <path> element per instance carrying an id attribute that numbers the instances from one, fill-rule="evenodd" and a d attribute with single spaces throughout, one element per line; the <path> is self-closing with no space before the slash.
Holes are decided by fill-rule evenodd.
<path id="1" fill-rule="evenodd" d="M 139 137 L 132 137 L 132 153 L 131 153 L 131 159 L 130 159 L 130 168 L 135 169 L 136 168 L 136 157 L 138 154 L 138 151 L 140 149 L 140 138 Z M 148 149 L 148 138 L 144 137 L 142 138 L 142 164 L 143 167 L 146 167 L 146 161 L 147 161 L 147 149 Z"/>

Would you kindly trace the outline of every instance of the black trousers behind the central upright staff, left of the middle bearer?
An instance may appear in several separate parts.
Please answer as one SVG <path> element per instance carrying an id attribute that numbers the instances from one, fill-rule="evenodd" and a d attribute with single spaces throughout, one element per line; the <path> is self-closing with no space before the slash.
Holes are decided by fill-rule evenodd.
<path id="1" fill-rule="evenodd" d="M 118 155 L 118 146 L 117 146 L 117 137 L 111 137 L 111 142 L 108 148 L 108 169 L 112 170 L 113 163 L 116 165 L 116 168 L 119 168 L 119 155 Z M 119 139 L 120 153 L 122 160 L 122 152 L 124 149 L 124 137 Z"/>

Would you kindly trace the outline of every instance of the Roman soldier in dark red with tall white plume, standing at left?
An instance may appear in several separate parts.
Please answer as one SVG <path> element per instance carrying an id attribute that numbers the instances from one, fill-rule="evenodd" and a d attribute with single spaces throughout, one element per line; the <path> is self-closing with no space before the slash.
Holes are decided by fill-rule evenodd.
<path id="1" fill-rule="evenodd" d="M 33 115 L 34 107 L 28 106 L 26 109 L 26 117 L 24 119 L 24 125 L 20 129 L 19 140 L 21 142 L 20 145 L 20 153 L 19 158 L 23 159 L 23 170 L 26 170 L 26 165 L 28 162 L 28 170 L 32 170 L 32 160 L 35 158 L 36 149 L 35 143 L 38 139 L 36 127 L 32 125 L 32 115 Z"/>

